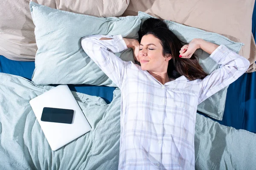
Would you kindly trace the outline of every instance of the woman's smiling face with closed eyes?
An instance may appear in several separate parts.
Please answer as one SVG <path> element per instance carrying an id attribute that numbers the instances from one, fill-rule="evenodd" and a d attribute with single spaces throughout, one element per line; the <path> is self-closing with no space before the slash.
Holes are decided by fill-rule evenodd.
<path id="1" fill-rule="evenodd" d="M 141 69 L 151 72 L 166 72 L 171 59 L 163 56 L 163 47 L 158 38 L 152 34 L 144 35 L 140 41 L 139 59 Z"/>

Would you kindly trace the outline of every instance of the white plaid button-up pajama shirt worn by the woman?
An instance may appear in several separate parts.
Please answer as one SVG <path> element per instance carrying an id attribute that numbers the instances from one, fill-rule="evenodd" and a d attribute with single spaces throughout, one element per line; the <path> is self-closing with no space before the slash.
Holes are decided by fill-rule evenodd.
<path id="1" fill-rule="evenodd" d="M 204 79 L 181 76 L 163 85 L 139 65 L 113 54 L 127 49 L 121 35 L 84 37 L 81 45 L 122 91 L 118 168 L 124 170 L 195 169 L 197 105 L 238 79 L 250 65 L 220 45 L 210 57 L 221 68 Z"/>

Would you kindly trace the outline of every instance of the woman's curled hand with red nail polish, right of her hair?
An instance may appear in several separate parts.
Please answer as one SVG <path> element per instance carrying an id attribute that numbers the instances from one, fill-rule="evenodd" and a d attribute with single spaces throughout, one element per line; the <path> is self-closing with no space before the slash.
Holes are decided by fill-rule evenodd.
<path id="1" fill-rule="evenodd" d="M 184 45 L 180 49 L 180 58 L 190 58 L 195 53 L 195 51 L 200 48 L 198 39 L 193 39 L 189 45 Z"/>

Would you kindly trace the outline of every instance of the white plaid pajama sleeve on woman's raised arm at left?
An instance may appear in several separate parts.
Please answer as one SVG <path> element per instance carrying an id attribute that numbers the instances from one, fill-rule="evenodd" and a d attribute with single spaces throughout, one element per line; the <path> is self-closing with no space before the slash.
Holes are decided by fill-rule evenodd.
<path id="1" fill-rule="evenodd" d="M 99 40 L 100 38 L 111 38 L 111 40 Z M 125 62 L 113 53 L 127 49 L 121 35 L 105 36 L 93 35 L 83 37 L 81 46 L 85 53 L 102 69 L 102 71 L 121 88 L 126 73 Z"/>

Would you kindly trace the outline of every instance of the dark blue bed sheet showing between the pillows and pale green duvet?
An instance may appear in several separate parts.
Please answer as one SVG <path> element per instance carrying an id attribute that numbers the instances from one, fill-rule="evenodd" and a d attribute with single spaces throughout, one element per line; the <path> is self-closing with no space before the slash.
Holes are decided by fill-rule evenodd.
<path id="1" fill-rule="evenodd" d="M 252 20 L 252 32 L 255 38 L 256 3 Z M 34 69 L 35 62 L 13 61 L 0 56 L 0 72 L 31 79 Z M 115 89 L 93 85 L 69 85 L 69 87 L 72 91 L 100 96 L 107 103 L 112 101 Z M 243 74 L 229 86 L 223 120 L 217 122 L 222 125 L 235 127 L 236 129 L 244 129 L 256 133 L 256 72 Z"/>

